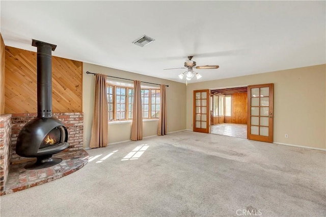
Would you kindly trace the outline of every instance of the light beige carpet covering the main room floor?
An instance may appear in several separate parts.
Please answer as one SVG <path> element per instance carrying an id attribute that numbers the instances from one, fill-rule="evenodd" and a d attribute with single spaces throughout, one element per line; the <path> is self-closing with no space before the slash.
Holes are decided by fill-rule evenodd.
<path id="1" fill-rule="evenodd" d="M 324 151 L 182 131 L 88 152 L 81 170 L 1 197 L 1 216 L 326 215 Z"/>

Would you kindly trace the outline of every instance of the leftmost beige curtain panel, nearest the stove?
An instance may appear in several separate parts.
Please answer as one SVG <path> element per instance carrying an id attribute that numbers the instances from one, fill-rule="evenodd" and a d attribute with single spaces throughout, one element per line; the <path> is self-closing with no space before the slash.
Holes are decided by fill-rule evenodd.
<path id="1" fill-rule="evenodd" d="M 95 104 L 90 148 L 107 146 L 106 75 L 95 75 Z"/>

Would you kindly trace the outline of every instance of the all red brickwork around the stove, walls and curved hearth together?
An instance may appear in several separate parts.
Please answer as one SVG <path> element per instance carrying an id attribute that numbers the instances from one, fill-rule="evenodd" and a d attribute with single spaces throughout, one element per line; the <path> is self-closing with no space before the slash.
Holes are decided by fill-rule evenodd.
<path id="1" fill-rule="evenodd" d="M 67 128 L 69 147 L 53 155 L 63 161 L 53 167 L 40 170 L 25 170 L 23 167 L 36 158 L 21 157 L 16 154 L 16 142 L 20 129 L 37 113 L 19 113 L 1 115 L 0 126 L 0 196 L 34 187 L 63 176 L 69 175 L 88 162 L 88 153 L 83 149 L 84 115 L 83 113 L 53 113 Z"/>

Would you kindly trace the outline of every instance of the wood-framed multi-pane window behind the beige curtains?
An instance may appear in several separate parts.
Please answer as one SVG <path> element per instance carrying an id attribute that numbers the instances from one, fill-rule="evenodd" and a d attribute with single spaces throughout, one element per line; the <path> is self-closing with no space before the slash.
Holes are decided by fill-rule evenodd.
<path id="1" fill-rule="evenodd" d="M 108 120 L 132 120 L 133 87 L 107 83 Z M 160 90 L 142 88 L 142 110 L 144 119 L 157 119 L 160 110 Z"/>

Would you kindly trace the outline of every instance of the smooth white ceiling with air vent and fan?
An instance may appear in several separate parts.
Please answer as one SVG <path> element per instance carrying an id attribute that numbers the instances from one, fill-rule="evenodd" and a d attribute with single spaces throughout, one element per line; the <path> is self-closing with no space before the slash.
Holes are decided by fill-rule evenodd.
<path id="1" fill-rule="evenodd" d="M 201 82 L 325 64 L 325 1 L 1 1 L 6 46 L 176 80 L 187 56 Z M 144 34 L 145 47 L 131 42 Z"/>

